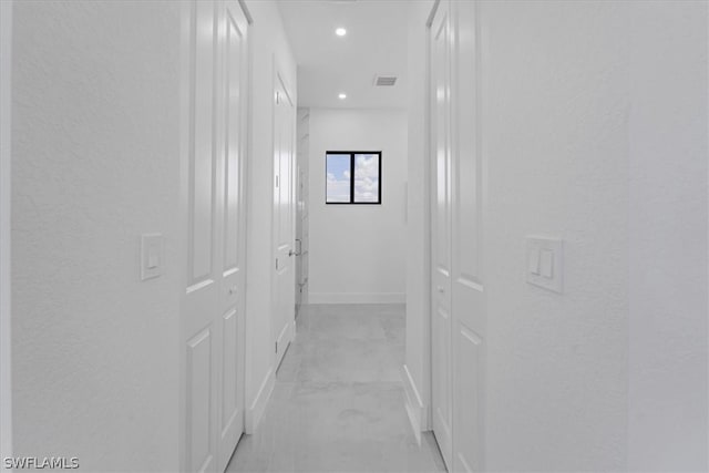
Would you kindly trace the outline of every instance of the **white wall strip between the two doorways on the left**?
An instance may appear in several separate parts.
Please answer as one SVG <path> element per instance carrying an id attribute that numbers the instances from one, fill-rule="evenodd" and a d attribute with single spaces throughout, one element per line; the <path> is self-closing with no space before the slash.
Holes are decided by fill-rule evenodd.
<path id="1" fill-rule="evenodd" d="M 246 428 L 253 431 L 275 382 L 271 331 L 271 245 L 274 186 L 274 68 L 296 93 L 296 62 L 275 1 L 247 1 L 251 29 L 251 138 L 247 216 L 247 364 Z M 294 110 L 295 126 L 295 110 Z"/>

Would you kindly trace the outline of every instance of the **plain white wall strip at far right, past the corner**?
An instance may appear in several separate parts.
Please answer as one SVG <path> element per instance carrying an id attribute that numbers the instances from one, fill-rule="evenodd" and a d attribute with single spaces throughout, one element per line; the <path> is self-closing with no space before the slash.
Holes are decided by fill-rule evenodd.
<path id="1" fill-rule="evenodd" d="M 628 466 L 707 471 L 707 2 L 633 10 Z"/>

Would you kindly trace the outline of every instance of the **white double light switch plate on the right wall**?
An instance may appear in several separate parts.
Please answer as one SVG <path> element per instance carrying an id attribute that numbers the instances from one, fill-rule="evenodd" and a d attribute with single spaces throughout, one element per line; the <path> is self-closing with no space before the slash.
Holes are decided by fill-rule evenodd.
<path id="1" fill-rule="evenodd" d="M 527 282 L 562 294 L 564 291 L 564 241 L 528 236 Z"/>

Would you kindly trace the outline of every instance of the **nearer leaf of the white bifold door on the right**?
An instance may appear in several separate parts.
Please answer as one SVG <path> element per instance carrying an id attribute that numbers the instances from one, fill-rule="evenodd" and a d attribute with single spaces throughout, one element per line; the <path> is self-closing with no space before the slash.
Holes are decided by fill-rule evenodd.
<path id="1" fill-rule="evenodd" d="M 483 470 L 483 173 L 477 120 L 477 2 L 451 2 L 453 470 Z"/>

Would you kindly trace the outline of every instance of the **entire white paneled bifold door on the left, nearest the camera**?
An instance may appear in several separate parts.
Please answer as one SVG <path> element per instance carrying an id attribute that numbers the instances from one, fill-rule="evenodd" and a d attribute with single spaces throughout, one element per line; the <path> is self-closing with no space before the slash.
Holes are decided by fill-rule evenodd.
<path id="1" fill-rule="evenodd" d="M 236 0 L 193 1 L 186 14 L 183 461 L 223 472 L 244 431 L 248 23 Z"/>

